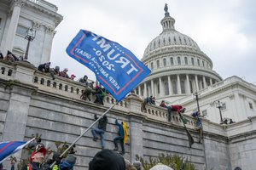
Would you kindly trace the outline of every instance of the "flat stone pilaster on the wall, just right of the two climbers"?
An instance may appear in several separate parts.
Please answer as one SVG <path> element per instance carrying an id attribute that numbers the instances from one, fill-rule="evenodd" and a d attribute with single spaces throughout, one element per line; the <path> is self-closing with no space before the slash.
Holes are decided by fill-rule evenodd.
<path id="1" fill-rule="evenodd" d="M 143 116 L 141 112 L 142 99 L 136 95 L 127 97 L 129 102 L 129 133 L 130 133 L 130 160 L 136 161 L 136 155 L 143 157 Z"/>

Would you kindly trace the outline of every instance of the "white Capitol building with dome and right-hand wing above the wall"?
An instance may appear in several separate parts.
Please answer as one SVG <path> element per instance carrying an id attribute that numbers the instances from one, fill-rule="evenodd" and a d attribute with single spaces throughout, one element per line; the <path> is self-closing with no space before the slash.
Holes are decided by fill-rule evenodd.
<path id="1" fill-rule="evenodd" d="M 157 102 L 183 105 L 186 113 L 197 111 L 195 93 L 199 94 L 201 114 L 212 122 L 222 117 L 238 122 L 256 116 L 256 86 L 230 77 L 225 80 L 212 71 L 212 59 L 190 37 L 175 30 L 175 20 L 166 11 L 161 20 L 163 31 L 149 42 L 143 63 L 152 71 L 135 89 L 141 98 L 153 95 Z"/>

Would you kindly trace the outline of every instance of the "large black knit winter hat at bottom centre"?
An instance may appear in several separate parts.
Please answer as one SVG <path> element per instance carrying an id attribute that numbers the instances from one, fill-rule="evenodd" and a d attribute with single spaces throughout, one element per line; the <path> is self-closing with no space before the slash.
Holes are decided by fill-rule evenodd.
<path id="1" fill-rule="evenodd" d="M 89 170 L 125 170 L 125 160 L 113 150 L 102 150 L 90 161 Z"/>

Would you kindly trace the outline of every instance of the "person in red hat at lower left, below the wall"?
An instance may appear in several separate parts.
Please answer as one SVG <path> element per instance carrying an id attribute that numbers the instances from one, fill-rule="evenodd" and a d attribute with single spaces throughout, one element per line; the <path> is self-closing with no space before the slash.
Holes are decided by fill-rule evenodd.
<path id="1" fill-rule="evenodd" d="M 39 144 L 38 144 L 39 145 Z M 28 163 L 22 170 L 40 170 L 42 169 L 42 162 L 46 156 L 47 150 L 44 146 L 37 146 L 36 151 L 29 157 L 30 163 Z"/>

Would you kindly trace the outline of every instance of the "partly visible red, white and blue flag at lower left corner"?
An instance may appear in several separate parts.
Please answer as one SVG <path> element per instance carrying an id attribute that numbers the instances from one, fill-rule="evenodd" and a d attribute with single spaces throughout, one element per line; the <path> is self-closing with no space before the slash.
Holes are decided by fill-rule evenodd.
<path id="1" fill-rule="evenodd" d="M 32 142 L 33 139 L 24 142 L 24 141 L 11 141 L 11 142 L 2 142 L 0 143 L 0 163 L 5 161 L 6 158 L 15 154 L 17 151 L 21 150 Z"/>

